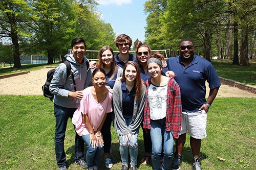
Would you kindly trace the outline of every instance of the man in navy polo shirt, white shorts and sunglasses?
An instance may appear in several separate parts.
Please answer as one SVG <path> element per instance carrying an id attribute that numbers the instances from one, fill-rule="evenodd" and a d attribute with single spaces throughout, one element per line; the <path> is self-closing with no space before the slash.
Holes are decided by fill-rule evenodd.
<path id="1" fill-rule="evenodd" d="M 194 54 L 194 43 L 189 38 L 180 42 L 180 56 L 169 58 L 167 67 L 175 72 L 175 80 L 180 86 L 182 101 L 181 134 L 176 139 L 172 169 L 180 169 L 186 132 L 190 135 L 190 147 L 194 156 L 193 169 L 202 169 L 199 157 L 201 139 L 206 137 L 207 111 L 221 85 L 219 77 L 209 61 Z M 205 99 L 206 81 L 210 88 L 207 101 Z"/>

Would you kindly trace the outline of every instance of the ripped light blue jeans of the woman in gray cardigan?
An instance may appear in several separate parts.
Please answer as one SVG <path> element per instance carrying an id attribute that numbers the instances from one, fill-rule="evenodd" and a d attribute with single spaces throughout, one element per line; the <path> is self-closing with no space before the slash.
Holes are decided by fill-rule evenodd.
<path id="1" fill-rule="evenodd" d="M 132 122 L 132 118 L 133 116 L 126 116 L 123 115 L 124 119 L 125 119 L 125 123 L 126 126 L 128 127 L 130 125 L 130 123 Z M 135 132 L 135 134 L 133 134 L 130 138 L 129 141 L 127 141 L 126 137 L 124 137 L 123 135 L 119 135 L 118 130 L 118 136 L 119 136 L 119 151 L 120 151 L 120 155 L 121 155 L 121 160 L 122 160 L 122 165 L 127 165 L 129 164 L 129 158 L 128 158 L 128 154 L 130 152 L 130 158 L 131 158 L 131 165 L 135 166 L 137 165 L 137 157 L 138 157 L 138 134 L 139 134 L 139 129 L 138 128 Z"/>

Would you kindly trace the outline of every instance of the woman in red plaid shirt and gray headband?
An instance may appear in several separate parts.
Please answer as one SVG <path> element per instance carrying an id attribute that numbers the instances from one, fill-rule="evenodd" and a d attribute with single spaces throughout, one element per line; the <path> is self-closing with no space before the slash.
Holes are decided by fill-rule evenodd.
<path id="1" fill-rule="evenodd" d="M 160 53 L 154 53 L 147 60 L 151 78 L 146 81 L 143 127 L 151 134 L 153 169 L 169 169 L 172 164 L 174 138 L 181 128 L 182 108 L 180 87 L 172 78 L 163 76 Z M 162 144 L 163 143 L 163 144 Z M 163 147 L 163 148 L 162 148 Z"/>

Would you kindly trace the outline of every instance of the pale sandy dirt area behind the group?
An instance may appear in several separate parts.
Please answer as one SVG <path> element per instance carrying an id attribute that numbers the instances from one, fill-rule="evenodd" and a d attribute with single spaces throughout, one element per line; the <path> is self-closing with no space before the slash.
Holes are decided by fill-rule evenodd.
<path id="1" fill-rule="evenodd" d="M 30 71 L 25 75 L 0 79 L 0 94 L 42 95 L 41 86 L 44 85 L 47 72 L 50 69 L 52 68 L 42 68 L 39 70 Z M 208 92 L 209 89 L 207 89 L 206 97 L 208 96 Z M 229 97 L 256 98 L 256 94 L 246 90 L 241 90 L 237 87 L 222 84 L 217 94 L 217 98 Z"/>

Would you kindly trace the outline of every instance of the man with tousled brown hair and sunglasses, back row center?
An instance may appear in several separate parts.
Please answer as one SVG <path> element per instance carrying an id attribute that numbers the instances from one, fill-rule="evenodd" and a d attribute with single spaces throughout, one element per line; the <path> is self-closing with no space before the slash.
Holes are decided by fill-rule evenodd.
<path id="1" fill-rule="evenodd" d="M 116 47 L 118 47 L 119 53 L 115 55 L 115 61 L 120 67 L 124 67 L 127 61 L 137 61 L 137 58 L 133 54 L 129 54 L 129 50 L 133 44 L 131 37 L 120 34 L 115 40 Z"/>

